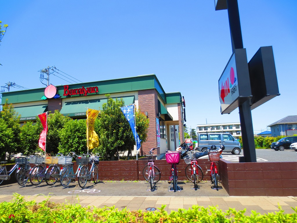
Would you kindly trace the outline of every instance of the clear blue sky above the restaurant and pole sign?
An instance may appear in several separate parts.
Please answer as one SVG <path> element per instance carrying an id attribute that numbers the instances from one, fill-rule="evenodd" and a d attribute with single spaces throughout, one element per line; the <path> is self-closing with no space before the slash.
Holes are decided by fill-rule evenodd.
<path id="1" fill-rule="evenodd" d="M 218 79 L 231 54 L 227 10 L 213 0 L 1 1 L 0 86 L 40 88 L 38 70 L 55 66 L 81 82 L 156 74 L 181 92 L 187 127 L 239 122 L 220 114 Z M 252 110 L 255 133 L 297 115 L 297 1 L 238 0 L 248 61 L 272 45 L 280 96 Z M 54 85 L 67 84 L 50 76 Z M 11 90 L 16 90 L 11 88 Z"/>

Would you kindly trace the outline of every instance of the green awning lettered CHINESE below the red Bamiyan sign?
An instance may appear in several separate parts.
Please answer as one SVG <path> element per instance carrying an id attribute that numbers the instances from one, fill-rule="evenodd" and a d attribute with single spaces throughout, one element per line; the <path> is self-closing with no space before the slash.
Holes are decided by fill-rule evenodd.
<path id="1" fill-rule="evenodd" d="M 121 98 L 123 98 L 125 105 L 130 105 L 134 103 L 134 96 L 127 96 Z M 101 110 L 102 105 L 106 102 L 107 98 L 65 102 L 62 106 L 60 113 L 67 115 L 69 117 L 86 116 L 86 111 L 88 108 Z"/>

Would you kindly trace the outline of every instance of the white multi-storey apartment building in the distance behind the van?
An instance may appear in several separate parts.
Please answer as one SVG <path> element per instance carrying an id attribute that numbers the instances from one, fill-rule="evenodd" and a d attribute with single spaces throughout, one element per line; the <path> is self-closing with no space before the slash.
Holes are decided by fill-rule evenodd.
<path id="1" fill-rule="evenodd" d="M 223 132 L 230 133 L 235 139 L 241 136 L 240 122 L 234 123 L 217 123 L 217 124 L 201 124 L 197 125 L 197 134 L 202 132 Z"/>

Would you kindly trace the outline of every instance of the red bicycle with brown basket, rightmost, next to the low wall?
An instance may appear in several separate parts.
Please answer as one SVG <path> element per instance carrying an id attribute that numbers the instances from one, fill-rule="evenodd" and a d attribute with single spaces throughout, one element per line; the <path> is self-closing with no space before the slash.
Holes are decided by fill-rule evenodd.
<path id="1" fill-rule="evenodd" d="M 217 147 L 215 145 L 211 146 L 211 150 L 216 148 Z M 225 146 L 221 145 L 218 150 L 208 152 L 208 157 L 209 157 L 209 161 L 211 161 L 211 164 L 210 164 L 210 169 L 208 169 L 207 171 L 210 171 L 211 183 L 214 184 L 214 186 L 212 186 L 211 189 L 216 189 L 217 191 L 221 188 L 218 187 L 219 171 L 218 171 L 216 162 L 219 161 L 222 151 L 224 149 L 225 149 Z"/>

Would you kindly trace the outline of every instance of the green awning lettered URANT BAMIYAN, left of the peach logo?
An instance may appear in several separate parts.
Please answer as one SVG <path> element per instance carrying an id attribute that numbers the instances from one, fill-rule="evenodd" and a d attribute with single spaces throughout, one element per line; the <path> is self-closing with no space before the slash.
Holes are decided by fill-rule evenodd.
<path id="1" fill-rule="evenodd" d="M 36 120 L 36 116 L 45 112 L 48 105 L 33 105 L 33 106 L 26 106 L 26 107 L 18 107 L 14 108 L 16 112 L 18 112 L 20 117 L 20 122 L 24 121 L 34 121 Z"/>

